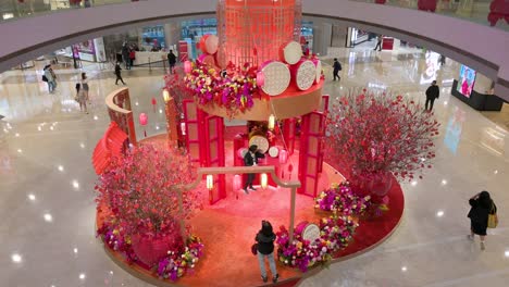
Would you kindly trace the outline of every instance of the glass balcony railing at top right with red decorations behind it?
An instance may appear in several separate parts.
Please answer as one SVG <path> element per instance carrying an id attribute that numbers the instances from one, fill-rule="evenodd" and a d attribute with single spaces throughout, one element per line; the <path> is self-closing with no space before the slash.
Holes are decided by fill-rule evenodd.
<path id="1" fill-rule="evenodd" d="M 509 32 L 507 0 L 350 0 L 394 5 L 463 18 Z M 430 23 L 432 24 L 432 23 Z"/>

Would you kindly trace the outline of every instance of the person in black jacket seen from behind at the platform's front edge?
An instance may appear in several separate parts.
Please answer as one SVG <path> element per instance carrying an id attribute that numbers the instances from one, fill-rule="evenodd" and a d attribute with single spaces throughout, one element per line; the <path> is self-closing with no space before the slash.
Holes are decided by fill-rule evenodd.
<path id="1" fill-rule="evenodd" d="M 272 230 L 272 225 L 268 221 L 262 221 L 262 228 L 258 232 L 254 240 L 258 242 L 257 253 L 258 253 L 258 263 L 260 263 L 260 271 L 262 280 L 266 282 L 266 270 L 265 270 L 265 261 L 264 258 L 269 259 L 269 266 L 271 267 L 272 273 L 272 282 L 276 283 L 280 278 L 280 274 L 277 274 L 274 261 L 274 241 L 275 241 L 275 234 Z"/>

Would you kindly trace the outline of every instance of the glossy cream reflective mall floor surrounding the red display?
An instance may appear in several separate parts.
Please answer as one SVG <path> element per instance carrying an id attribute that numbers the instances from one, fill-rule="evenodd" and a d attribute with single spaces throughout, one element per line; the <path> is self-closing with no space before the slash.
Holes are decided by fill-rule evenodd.
<path id="1" fill-rule="evenodd" d="M 424 100 L 437 77 L 442 123 L 437 159 L 424 179 L 402 185 L 407 209 L 397 232 L 358 258 L 332 265 L 301 286 L 507 286 L 509 279 L 508 132 L 449 96 L 457 64 L 436 70 L 433 54 L 337 51 L 342 82 L 331 96 L 370 87 Z M 331 60 L 325 60 L 331 63 Z M 57 70 L 48 93 L 40 70 L 0 76 L 0 285 L 148 286 L 110 261 L 95 237 L 91 153 L 109 120 L 103 105 L 113 73 L 88 66 L 90 114 L 73 100 L 77 71 Z M 149 116 L 147 133 L 163 132 L 162 71 L 124 71 L 135 113 Z M 151 105 L 156 97 L 158 105 Z M 144 129 L 137 126 L 138 137 Z M 467 240 L 468 199 L 486 189 L 499 210 L 485 251 Z M 241 266 L 239 266 L 241 269 Z M 260 282 L 261 283 L 261 282 Z M 241 283 L 238 283 L 243 286 Z"/>

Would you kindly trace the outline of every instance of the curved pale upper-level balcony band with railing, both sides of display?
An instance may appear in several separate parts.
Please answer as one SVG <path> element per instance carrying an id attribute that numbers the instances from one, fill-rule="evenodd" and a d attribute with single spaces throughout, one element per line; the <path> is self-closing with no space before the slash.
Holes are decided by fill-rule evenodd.
<path id="1" fill-rule="evenodd" d="M 20 1 L 0 0 L 4 18 L 0 22 L 0 71 L 94 37 L 174 17 L 210 16 L 216 4 L 216 0 L 24 0 L 13 5 L 14 2 Z M 427 2 L 434 1 L 376 4 L 364 0 L 302 0 L 302 11 L 309 17 L 384 34 L 443 53 L 494 79 L 496 93 L 508 100 L 509 25 L 500 18 L 494 27 L 489 26 L 489 9 L 494 5 L 489 1 L 440 0 L 435 13 L 417 10 L 427 7 Z M 89 8 L 78 9 L 85 7 Z M 497 15 L 506 15 L 505 9 L 502 4 Z"/>

